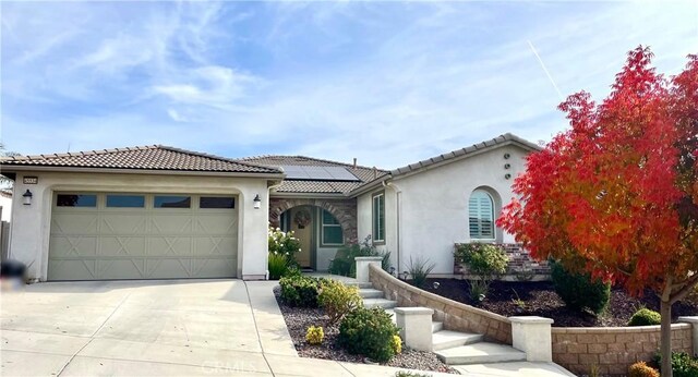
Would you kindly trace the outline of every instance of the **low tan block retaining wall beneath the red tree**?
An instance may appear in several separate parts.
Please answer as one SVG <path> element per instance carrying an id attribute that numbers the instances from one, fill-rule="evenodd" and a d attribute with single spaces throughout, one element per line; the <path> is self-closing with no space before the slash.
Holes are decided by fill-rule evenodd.
<path id="1" fill-rule="evenodd" d="M 693 354 L 690 324 L 672 325 L 672 348 Z M 625 376 L 636 362 L 649 362 L 659 350 L 660 327 L 553 327 L 553 362 L 570 372 Z"/>

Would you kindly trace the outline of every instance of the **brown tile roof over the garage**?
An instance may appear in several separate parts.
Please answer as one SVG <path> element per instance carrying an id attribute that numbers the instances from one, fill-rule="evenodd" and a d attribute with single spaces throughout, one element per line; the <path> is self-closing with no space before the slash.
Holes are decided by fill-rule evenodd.
<path id="1" fill-rule="evenodd" d="M 280 173 L 252 162 L 178 149 L 163 145 L 128 147 L 68 154 L 16 156 L 0 159 L 9 167 L 65 167 L 130 170 L 171 170 L 197 172 Z"/>

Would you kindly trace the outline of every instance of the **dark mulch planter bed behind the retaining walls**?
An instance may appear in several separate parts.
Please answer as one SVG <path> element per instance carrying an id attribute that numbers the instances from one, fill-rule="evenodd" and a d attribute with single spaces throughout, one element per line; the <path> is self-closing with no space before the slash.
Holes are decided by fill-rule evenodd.
<path id="1" fill-rule="evenodd" d="M 438 282 L 438 284 L 434 284 Z M 438 288 L 434 288 L 437 285 Z M 477 306 L 485 311 L 509 316 L 541 316 L 552 318 L 554 327 L 623 327 L 627 326 L 633 314 L 647 307 L 659 312 L 659 299 L 651 292 L 642 297 L 633 297 L 621 288 L 611 290 L 611 300 L 605 312 L 598 317 L 591 313 L 578 313 L 565 307 L 552 282 L 541 281 L 494 281 L 482 303 L 474 303 L 469 296 L 467 280 L 429 279 L 425 290 L 441 296 Z M 524 307 L 516 304 L 524 302 Z M 698 300 L 685 300 L 674 304 L 672 316 L 695 316 L 698 314 Z"/>

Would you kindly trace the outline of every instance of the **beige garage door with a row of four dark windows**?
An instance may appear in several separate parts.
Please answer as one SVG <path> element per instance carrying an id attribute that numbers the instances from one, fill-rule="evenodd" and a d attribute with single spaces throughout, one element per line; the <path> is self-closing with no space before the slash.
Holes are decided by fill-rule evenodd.
<path id="1" fill-rule="evenodd" d="M 231 278 L 236 197 L 57 193 L 49 280 Z"/>

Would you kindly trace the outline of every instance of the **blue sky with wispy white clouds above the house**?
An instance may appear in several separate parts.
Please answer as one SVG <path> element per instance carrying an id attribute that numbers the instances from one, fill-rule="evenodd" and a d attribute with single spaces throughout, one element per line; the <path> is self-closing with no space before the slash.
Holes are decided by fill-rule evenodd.
<path id="1" fill-rule="evenodd" d="M 395 168 L 567 125 L 628 50 L 698 52 L 698 2 L 7 2 L 1 139 L 23 154 L 165 144 Z M 531 45 L 529 45 L 529 41 Z"/>

